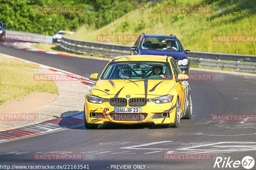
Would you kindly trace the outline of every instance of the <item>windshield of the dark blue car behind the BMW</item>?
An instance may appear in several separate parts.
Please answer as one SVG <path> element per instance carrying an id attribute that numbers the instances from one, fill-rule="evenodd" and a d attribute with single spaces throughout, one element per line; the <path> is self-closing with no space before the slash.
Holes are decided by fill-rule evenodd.
<path id="1" fill-rule="evenodd" d="M 141 49 L 182 51 L 177 39 L 161 37 L 145 37 L 142 40 Z"/>

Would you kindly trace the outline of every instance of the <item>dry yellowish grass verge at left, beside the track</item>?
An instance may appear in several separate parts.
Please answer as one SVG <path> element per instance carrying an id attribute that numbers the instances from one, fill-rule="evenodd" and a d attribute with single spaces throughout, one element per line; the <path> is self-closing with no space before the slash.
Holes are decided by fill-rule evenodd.
<path id="1" fill-rule="evenodd" d="M 0 55 L 0 105 L 35 91 L 58 94 L 53 81 L 34 81 L 31 68 L 39 67 Z"/>

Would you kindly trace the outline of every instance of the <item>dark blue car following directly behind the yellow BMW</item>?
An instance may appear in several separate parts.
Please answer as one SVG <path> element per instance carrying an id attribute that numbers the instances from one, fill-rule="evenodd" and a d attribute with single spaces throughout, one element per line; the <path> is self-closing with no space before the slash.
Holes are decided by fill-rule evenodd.
<path id="1" fill-rule="evenodd" d="M 143 32 L 131 48 L 131 55 L 164 55 L 173 57 L 183 74 L 189 74 L 189 60 L 180 40 L 173 34 L 158 35 Z"/>

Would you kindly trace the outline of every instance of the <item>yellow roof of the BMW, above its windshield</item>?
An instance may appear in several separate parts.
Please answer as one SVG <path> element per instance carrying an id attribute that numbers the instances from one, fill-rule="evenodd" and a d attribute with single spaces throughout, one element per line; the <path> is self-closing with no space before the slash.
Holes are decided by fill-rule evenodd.
<path id="1" fill-rule="evenodd" d="M 172 58 L 172 57 L 170 57 Z M 113 61 L 164 61 L 166 62 L 167 56 L 163 55 L 126 55 L 117 56 L 112 59 Z"/>

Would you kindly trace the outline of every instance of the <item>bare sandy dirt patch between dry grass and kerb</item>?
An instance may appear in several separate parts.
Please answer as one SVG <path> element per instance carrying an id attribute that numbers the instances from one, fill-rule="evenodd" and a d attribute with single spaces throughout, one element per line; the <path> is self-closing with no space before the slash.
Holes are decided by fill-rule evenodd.
<path id="1" fill-rule="evenodd" d="M 33 109 L 52 102 L 58 94 L 31 92 L 26 96 L 20 97 L 18 100 L 8 100 L 0 105 L 0 114 L 15 111 Z"/>

